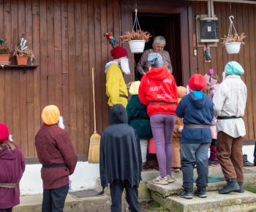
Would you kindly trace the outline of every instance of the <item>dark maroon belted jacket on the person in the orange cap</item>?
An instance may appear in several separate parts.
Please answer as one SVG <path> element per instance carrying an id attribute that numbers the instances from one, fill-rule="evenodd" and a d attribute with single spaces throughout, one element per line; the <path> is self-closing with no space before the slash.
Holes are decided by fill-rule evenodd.
<path id="1" fill-rule="evenodd" d="M 68 133 L 57 124 L 42 124 L 36 135 L 39 162 L 45 165 L 67 164 L 66 167 L 43 168 L 41 178 L 44 189 L 56 189 L 69 183 L 78 161 Z"/>

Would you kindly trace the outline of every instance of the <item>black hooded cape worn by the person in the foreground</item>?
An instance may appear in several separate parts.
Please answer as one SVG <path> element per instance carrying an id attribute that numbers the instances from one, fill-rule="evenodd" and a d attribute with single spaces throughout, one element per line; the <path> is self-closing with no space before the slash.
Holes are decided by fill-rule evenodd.
<path id="1" fill-rule="evenodd" d="M 141 181 L 141 152 L 137 132 L 127 124 L 127 111 L 121 104 L 110 112 L 110 126 L 100 140 L 99 173 L 102 188 L 113 181 L 127 180 L 131 186 Z"/>

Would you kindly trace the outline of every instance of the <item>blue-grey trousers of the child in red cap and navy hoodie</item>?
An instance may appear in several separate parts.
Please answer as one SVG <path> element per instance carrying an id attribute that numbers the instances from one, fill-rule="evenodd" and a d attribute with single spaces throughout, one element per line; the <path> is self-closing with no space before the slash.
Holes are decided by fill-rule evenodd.
<path id="1" fill-rule="evenodd" d="M 208 186 L 209 145 L 209 143 L 181 143 L 182 187 L 193 188 L 195 162 L 197 162 L 197 187 Z"/>

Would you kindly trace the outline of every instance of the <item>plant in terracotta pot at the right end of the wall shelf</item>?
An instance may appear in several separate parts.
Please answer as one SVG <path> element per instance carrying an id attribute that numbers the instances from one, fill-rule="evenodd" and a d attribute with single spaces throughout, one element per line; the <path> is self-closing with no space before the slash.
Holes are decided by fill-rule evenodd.
<path id="1" fill-rule="evenodd" d="M 23 38 L 20 39 L 20 45 L 15 46 L 13 56 L 16 57 L 18 65 L 26 65 L 29 57 L 31 62 L 35 59 L 33 50 L 26 46 L 26 39 Z"/>

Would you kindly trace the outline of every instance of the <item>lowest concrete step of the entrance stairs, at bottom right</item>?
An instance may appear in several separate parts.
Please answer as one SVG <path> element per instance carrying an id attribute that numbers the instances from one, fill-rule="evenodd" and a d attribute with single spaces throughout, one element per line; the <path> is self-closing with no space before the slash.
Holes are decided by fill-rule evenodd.
<path id="1" fill-rule="evenodd" d="M 157 200 L 157 193 L 152 197 Z M 158 201 L 157 201 L 158 202 Z M 171 212 L 190 212 L 190 211 L 248 211 L 249 208 L 256 208 L 256 194 L 251 192 L 230 194 L 219 194 L 219 192 L 207 192 L 207 198 L 193 196 L 193 199 L 187 200 L 178 196 L 170 196 L 161 200 L 165 208 Z"/>

